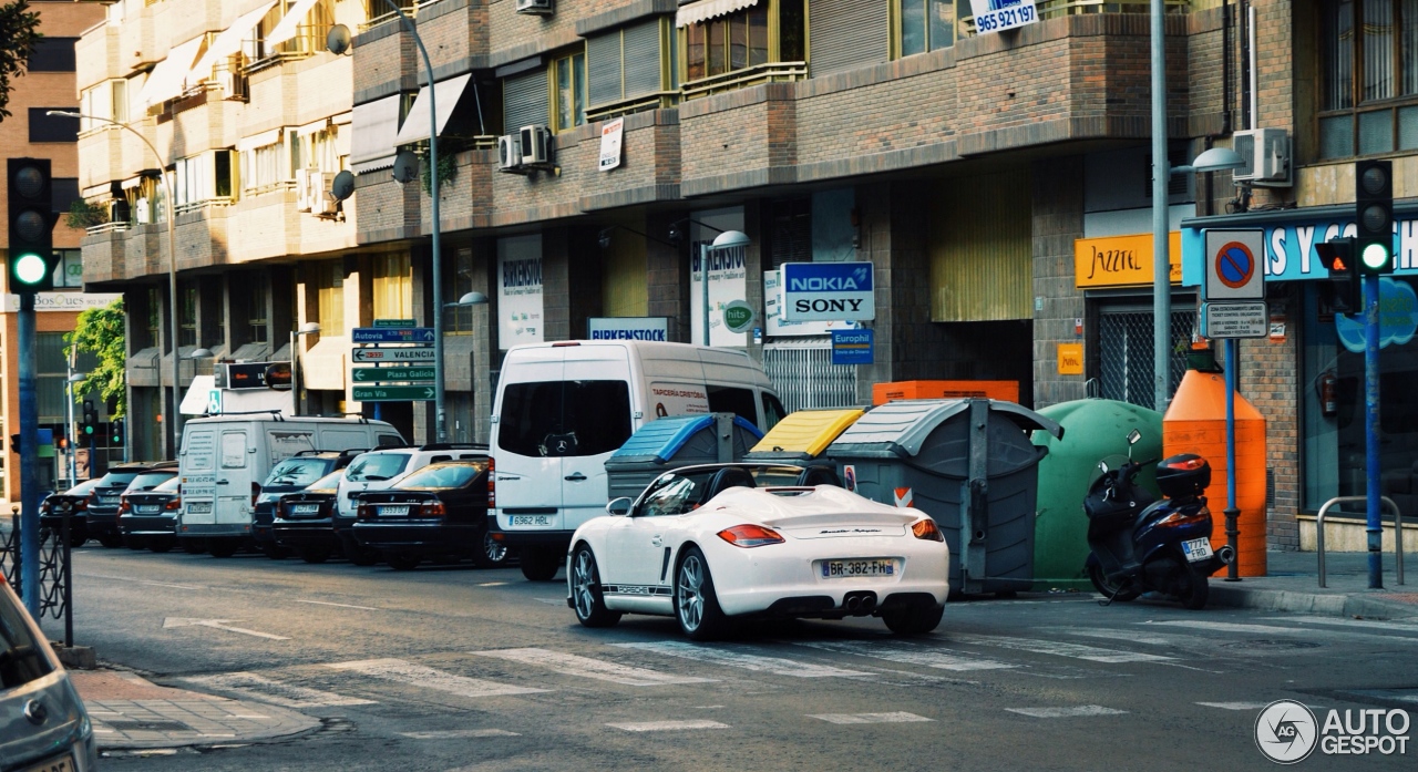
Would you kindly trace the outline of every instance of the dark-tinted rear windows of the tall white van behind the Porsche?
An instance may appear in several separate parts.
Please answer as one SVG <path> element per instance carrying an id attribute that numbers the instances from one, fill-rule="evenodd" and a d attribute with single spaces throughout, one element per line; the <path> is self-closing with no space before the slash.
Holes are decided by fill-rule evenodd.
<path id="1" fill-rule="evenodd" d="M 498 446 L 519 456 L 596 456 L 630 439 L 625 381 L 508 384 Z"/>

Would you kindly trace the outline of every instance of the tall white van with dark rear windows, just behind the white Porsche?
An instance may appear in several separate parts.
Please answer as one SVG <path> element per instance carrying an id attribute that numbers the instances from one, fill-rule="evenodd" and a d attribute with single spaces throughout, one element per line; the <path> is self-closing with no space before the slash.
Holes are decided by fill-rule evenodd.
<path id="1" fill-rule="evenodd" d="M 657 418 L 705 412 L 733 412 L 764 432 L 784 415 L 743 351 L 638 340 L 508 350 L 489 443 L 493 538 L 520 547 L 526 578 L 553 578 L 571 533 L 605 511 L 605 459 Z"/>

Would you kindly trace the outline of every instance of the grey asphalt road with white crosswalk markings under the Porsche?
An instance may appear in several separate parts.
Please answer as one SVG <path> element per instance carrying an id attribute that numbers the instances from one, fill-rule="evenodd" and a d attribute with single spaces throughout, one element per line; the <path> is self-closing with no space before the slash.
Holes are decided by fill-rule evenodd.
<path id="1" fill-rule="evenodd" d="M 922 639 L 861 619 L 696 645 L 669 619 L 583 629 L 564 584 L 518 569 L 85 548 L 75 571 L 75 642 L 101 662 L 323 721 L 104 769 L 1275 769 L 1272 701 L 1418 717 L 1418 620 L 1073 594 L 951 603 Z"/>

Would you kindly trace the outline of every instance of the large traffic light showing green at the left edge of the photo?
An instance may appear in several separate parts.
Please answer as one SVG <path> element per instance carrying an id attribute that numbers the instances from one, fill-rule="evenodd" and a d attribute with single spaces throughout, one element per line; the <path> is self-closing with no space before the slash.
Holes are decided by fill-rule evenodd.
<path id="1" fill-rule="evenodd" d="M 48 159 L 9 159 L 10 292 L 54 289 L 54 201 Z"/>

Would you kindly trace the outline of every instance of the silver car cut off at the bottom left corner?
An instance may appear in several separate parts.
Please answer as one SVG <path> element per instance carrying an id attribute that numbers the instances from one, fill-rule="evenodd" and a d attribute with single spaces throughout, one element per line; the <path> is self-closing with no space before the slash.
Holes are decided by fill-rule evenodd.
<path id="1" fill-rule="evenodd" d="M 0 575 L 0 766 L 91 772 L 94 727 L 79 693 L 20 598 Z"/>

